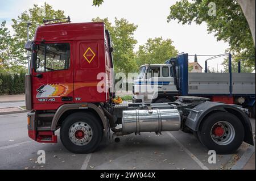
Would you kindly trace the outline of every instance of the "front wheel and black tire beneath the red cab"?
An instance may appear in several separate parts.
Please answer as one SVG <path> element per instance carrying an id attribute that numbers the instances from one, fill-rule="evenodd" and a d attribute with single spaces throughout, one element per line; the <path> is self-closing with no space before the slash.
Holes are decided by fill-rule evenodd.
<path id="1" fill-rule="evenodd" d="M 72 113 L 60 127 L 60 140 L 73 153 L 92 153 L 100 145 L 102 135 L 100 120 L 92 113 Z"/>

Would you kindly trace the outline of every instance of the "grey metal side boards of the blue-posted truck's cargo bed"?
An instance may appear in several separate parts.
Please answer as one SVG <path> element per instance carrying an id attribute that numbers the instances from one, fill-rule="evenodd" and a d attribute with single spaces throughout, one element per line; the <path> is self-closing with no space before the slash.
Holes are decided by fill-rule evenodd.
<path id="1" fill-rule="evenodd" d="M 255 74 L 232 73 L 232 94 L 255 94 Z M 188 73 L 188 94 L 230 94 L 229 73 Z"/>

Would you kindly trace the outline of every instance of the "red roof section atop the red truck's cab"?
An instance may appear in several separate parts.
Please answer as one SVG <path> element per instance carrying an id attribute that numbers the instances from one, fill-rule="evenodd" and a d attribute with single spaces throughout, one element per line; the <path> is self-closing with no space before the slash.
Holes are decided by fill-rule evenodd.
<path id="1" fill-rule="evenodd" d="M 103 22 L 55 23 L 39 26 L 35 41 L 104 40 Z"/>

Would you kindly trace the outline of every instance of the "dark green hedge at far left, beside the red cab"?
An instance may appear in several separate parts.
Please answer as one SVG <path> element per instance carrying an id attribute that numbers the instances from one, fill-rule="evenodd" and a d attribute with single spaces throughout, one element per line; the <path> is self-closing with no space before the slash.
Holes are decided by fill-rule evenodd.
<path id="1" fill-rule="evenodd" d="M 0 95 L 23 94 L 25 92 L 25 73 L 0 73 Z"/>

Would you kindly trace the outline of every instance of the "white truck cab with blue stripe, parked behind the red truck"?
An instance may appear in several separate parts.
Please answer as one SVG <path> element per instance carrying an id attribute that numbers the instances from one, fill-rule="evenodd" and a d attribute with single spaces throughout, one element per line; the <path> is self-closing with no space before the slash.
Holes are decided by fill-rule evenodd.
<path id="1" fill-rule="evenodd" d="M 155 91 L 147 91 L 154 83 Z M 168 92 L 168 95 L 166 94 Z M 173 96 L 178 94 L 175 85 L 172 65 L 146 64 L 139 68 L 138 77 L 134 80 L 133 102 L 161 103 L 161 100 L 172 102 Z M 161 99 L 159 101 L 159 99 Z"/>

